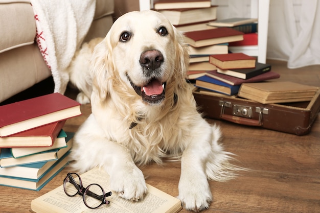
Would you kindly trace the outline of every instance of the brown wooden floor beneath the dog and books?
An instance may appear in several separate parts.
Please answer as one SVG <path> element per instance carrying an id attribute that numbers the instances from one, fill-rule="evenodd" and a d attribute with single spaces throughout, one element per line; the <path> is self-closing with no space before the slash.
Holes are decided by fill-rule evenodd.
<path id="1" fill-rule="evenodd" d="M 268 61 L 280 80 L 320 86 L 320 65 L 288 69 L 281 61 Z M 68 91 L 68 96 L 74 93 Z M 66 131 L 76 131 L 90 113 L 68 120 Z M 214 201 L 203 212 L 320 212 L 320 115 L 305 136 L 296 136 L 223 121 L 224 146 L 237 155 L 236 164 L 250 169 L 228 182 L 210 181 Z M 166 193 L 178 195 L 179 162 L 142 168 L 147 182 Z M 64 169 L 40 192 L 0 186 L 0 212 L 29 212 L 31 200 L 62 184 Z M 187 212 L 185 209 L 180 212 Z"/>

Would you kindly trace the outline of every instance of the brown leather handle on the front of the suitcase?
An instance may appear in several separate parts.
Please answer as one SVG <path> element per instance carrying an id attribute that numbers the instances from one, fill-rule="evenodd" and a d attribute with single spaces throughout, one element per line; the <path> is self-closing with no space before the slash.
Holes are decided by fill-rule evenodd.
<path id="1" fill-rule="evenodd" d="M 245 117 L 224 114 L 225 103 L 221 102 L 220 106 L 221 106 L 220 118 L 225 121 L 230 121 L 236 124 L 242 124 L 242 125 L 248 125 L 248 126 L 262 126 L 262 122 L 261 122 L 262 114 L 263 114 L 262 110 L 259 111 L 259 120 L 252 120 L 252 119 L 247 119 Z"/>

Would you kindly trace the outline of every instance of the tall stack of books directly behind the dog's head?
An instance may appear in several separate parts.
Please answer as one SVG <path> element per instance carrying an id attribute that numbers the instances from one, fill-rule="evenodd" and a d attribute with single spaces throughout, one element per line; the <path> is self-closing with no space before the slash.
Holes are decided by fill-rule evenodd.
<path id="1" fill-rule="evenodd" d="M 208 25 L 209 22 L 216 20 L 218 6 L 211 5 L 211 1 L 207 0 L 156 0 L 153 1 L 153 4 L 156 11 L 165 15 L 179 31 L 184 32 L 190 38 L 190 43 L 188 42 L 190 54 L 189 74 L 201 73 L 199 70 L 203 73 L 203 70 L 215 69 L 215 66 L 209 63 L 209 56 L 228 53 L 227 42 L 229 40 L 226 42 L 209 41 L 202 45 L 198 44 L 199 41 L 194 41 L 193 39 L 210 40 L 225 35 L 219 35 L 220 33 L 215 31 L 211 32 L 210 30 L 214 30 L 216 27 Z M 223 31 L 222 33 L 225 32 Z M 202 38 L 203 35 L 209 35 L 209 37 Z"/>

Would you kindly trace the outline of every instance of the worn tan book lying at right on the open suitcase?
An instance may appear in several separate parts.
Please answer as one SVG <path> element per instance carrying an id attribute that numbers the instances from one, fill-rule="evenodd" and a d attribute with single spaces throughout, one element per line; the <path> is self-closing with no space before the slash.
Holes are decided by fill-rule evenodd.
<path id="1" fill-rule="evenodd" d="M 319 88 L 289 81 L 245 83 L 238 96 L 262 104 L 310 101 Z"/>

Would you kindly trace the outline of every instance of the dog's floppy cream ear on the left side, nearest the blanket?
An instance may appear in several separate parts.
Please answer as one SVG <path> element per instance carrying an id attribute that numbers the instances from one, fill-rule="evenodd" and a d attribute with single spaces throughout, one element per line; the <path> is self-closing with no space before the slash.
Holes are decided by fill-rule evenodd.
<path id="1" fill-rule="evenodd" d="M 110 33 L 95 47 L 91 58 L 93 91 L 98 92 L 100 99 L 105 99 L 109 93 L 109 79 L 112 76 L 113 60 Z"/>

